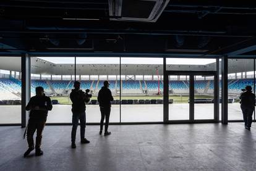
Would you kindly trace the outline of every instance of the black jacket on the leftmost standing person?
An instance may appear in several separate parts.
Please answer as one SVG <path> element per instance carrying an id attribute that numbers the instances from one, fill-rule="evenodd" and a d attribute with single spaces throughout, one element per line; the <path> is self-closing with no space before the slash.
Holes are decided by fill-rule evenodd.
<path id="1" fill-rule="evenodd" d="M 35 110 L 34 107 L 38 106 L 40 109 Z M 48 111 L 53 109 L 51 99 L 48 96 L 33 96 L 30 98 L 26 106 L 26 110 L 30 111 L 30 119 L 45 119 L 47 118 Z"/>

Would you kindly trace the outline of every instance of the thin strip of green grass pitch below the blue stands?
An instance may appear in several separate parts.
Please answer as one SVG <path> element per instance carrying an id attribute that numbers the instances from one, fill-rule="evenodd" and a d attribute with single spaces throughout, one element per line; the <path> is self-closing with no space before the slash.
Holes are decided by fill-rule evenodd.
<path id="1" fill-rule="evenodd" d="M 195 96 L 197 98 L 212 98 L 211 96 Z M 61 96 L 54 96 L 51 97 L 52 100 L 58 100 L 59 104 L 72 104 L 69 97 L 61 97 Z M 91 99 L 97 99 L 96 96 L 92 97 Z M 119 96 L 114 96 L 114 99 L 120 99 Z M 163 96 L 121 96 L 121 99 L 163 99 Z M 179 103 L 187 103 L 189 96 L 169 96 L 169 99 L 173 99 Z"/>

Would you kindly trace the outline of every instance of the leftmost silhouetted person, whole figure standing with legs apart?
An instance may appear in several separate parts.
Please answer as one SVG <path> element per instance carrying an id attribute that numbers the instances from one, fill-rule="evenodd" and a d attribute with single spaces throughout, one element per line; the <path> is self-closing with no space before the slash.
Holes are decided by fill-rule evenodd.
<path id="1" fill-rule="evenodd" d="M 30 114 L 27 126 L 28 150 L 24 153 L 24 157 L 28 156 L 33 149 L 35 149 L 36 156 L 43 155 L 43 151 L 40 149 L 43 128 L 45 127 L 48 111 L 53 109 L 51 99 L 48 96 L 45 96 L 43 87 L 38 86 L 35 91 L 36 95 L 30 99 L 26 106 L 26 110 L 30 111 Z M 34 146 L 33 135 L 35 131 L 36 144 Z"/>

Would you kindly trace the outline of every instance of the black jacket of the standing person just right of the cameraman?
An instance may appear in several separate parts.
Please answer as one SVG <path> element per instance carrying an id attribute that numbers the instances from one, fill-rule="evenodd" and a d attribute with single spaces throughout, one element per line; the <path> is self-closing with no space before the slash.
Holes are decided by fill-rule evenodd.
<path id="1" fill-rule="evenodd" d="M 111 101 L 113 100 L 114 98 L 109 88 L 106 88 L 105 86 L 101 87 L 101 90 L 98 94 L 98 102 L 100 107 L 111 107 Z"/>

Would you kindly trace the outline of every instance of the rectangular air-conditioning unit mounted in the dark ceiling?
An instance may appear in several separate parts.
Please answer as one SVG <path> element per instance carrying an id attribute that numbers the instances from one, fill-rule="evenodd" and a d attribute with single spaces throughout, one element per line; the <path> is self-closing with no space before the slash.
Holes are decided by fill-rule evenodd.
<path id="1" fill-rule="evenodd" d="M 110 20 L 156 22 L 169 0 L 108 0 Z"/>

